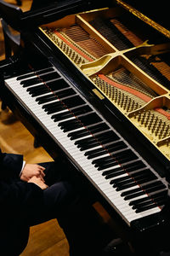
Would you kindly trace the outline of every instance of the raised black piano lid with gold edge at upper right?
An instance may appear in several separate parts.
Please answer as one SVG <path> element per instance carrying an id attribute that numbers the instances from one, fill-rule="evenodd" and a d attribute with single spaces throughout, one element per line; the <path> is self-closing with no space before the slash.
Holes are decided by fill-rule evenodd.
<path id="1" fill-rule="evenodd" d="M 150 26 L 153 26 L 167 38 L 170 38 L 170 27 L 167 18 L 168 8 L 165 2 L 163 1 L 163 4 L 155 2 L 153 6 L 149 7 L 148 1 L 145 0 L 142 2 L 137 0 L 59 0 L 48 4 L 46 7 L 43 6 L 39 9 L 23 12 L 19 7 L 0 0 L 0 14 L 3 20 L 6 20 L 10 26 L 21 31 L 23 28 L 32 29 L 42 24 L 59 20 L 65 15 L 77 14 L 90 9 L 111 7 L 118 4 Z"/>

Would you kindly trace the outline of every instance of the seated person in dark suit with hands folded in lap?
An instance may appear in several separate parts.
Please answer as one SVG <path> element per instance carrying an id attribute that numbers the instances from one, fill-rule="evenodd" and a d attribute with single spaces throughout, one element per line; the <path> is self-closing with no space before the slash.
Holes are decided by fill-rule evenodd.
<path id="1" fill-rule="evenodd" d="M 0 203 L 3 256 L 19 255 L 26 247 L 29 227 L 52 218 L 64 230 L 71 256 L 103 255 L 104 234 L 96 212 L 61 160 L 27 164 L 22 155 L 0 150 Z"/>

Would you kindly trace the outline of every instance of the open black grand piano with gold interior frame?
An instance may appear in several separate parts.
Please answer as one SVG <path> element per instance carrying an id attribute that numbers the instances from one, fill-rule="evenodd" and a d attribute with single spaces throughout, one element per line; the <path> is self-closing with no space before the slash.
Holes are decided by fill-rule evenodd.
<path id="1" fill-rule="evenodd" d="M 76 168 L 139 255 L 169 250 L 170 31 L 157 3 L 136 2 L 0 4 L 21 38 L 0 97 Z"/>

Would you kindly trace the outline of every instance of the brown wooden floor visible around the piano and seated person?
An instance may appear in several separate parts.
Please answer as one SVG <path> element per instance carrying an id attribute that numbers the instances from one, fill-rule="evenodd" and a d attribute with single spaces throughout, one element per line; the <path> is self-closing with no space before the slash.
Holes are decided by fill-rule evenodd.
<path id="1" fill-rule="evenodd" d="M 14 3 L 14 0 L 6 1 Z M 23 11 L 30 9 L 31 0 L 23 0 Z M 4 59 L 3 32 L 0 26 L 0 60 Z M 0 102 L 1 104 L 1 102 Z M 1 108 L 0 108 L 1 109 Z M 33 137 L 14 115 L 0 110 L 0 148 L 3 152 L 24 154 L 29 163 L 52 160 L 43 148 L 33 147 Z M 21 256 L 68 256 L 69 246 L 57 221 L 31 227 L 28 245 Z"/>

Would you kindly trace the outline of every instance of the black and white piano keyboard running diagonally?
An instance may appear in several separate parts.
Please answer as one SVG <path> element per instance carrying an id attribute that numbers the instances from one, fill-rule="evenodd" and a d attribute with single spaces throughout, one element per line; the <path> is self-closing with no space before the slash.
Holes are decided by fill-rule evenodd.
<path id="1" fill-rule="evenodd" d="M 127 224 L 161 211 L 164 179 L 55 67 L 5 85 Z"/>

